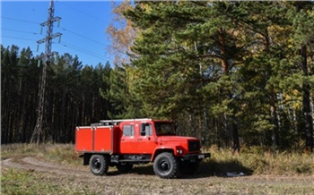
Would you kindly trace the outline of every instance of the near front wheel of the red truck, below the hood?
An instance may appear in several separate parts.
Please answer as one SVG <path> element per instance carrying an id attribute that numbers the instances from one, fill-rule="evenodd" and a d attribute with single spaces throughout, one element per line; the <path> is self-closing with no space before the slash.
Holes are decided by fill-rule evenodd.
<path id="1" fill-rule="evenodd" d="M 159 154 L 153 162 L 153 171 L 161 178 L 169 179 L 178 173 L 179 164 L 177 158 L 169 152 Z"/>

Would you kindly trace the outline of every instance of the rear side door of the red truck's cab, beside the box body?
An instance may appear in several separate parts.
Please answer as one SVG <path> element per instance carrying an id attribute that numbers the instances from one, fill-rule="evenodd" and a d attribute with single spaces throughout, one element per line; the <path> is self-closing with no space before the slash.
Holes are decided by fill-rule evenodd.
<path id="1" fill-rule="evenodd" d="M 134 123 L 123 123 L 121 126 L 122 135 L 120 139 L 120 154 L 135 154 L 135 125 Z"/>

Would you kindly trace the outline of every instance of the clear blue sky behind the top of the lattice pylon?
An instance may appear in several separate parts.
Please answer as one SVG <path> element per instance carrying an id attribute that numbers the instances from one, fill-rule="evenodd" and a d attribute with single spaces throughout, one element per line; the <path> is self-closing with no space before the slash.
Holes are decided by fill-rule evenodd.
<path id="1" fill-rule="evenodd" d="M 110 1 L 64 1 L 55 0 L 55 17 L 61 17 L 59 27 L 54 23 L 53 32 L 62 33 L 53 39 L 52 51 L 59 55 L 77 55 L 82 63 L 89 65 L 106 64 L 112 57 L 106 29 L 111 21 Z M 1 44 L 4 47 L 17 45 L 20 50 L 31 47 L 33 55 L 45 52 L 45 43 L 37 40 L 45 38 L 47 28 L 40 23 L 48 19 L 49 1 L 1 1 Z M 112 65 L 112 64 L 111 64 Z"/>

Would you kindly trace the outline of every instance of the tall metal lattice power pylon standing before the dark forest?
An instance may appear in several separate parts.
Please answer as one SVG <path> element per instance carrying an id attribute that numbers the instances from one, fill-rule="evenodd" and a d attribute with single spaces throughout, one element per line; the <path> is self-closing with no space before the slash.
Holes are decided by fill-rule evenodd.
<path id="1" fill-rule="evenodd" d="M 45 22 L 42 22 L 40 24 L 41 27 L 47 26 L 47 35 L 46 38 L 42 38 L 39 41 L 37 41 L 38 44 L 41 43 L 46 43 L 46 48 L 45 48 L 45 56 L 44 56 L 44 64 L 42 68 L 42 75 L 41 75 L 41 80 L 39 83 L 39 106 L 37 109 L 37 122 L 35 125 L 35 129 L 31 135 L 31 143 L 35 142 L 39 144 L 40 139 L 44 140 L 44 135 L 45 132 L 48 132 L 48 125 L 47 121 L 45 119 L 45 88 L 46 88 L 46 80 L 47 80 L 47 70 L 48 66 L 51 62 L 51 43 L 53 38 L 61 37 L 61 33 L 55 33 L 53 34 L 53 23 L 55 21 L 60 21 L 60 17 L 54 17 L 54 12 L 55 12 L 55 6 L 54 6 L 54 1 L 50 0 L 49 8 L 48 8 L 48 20 Z"/>

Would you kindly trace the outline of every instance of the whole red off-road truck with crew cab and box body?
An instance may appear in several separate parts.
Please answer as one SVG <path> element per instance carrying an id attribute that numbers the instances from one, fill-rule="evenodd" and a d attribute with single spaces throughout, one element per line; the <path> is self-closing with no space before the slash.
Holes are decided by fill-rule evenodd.
<path id="1" fill-rule="evenodd" d="M 210 157 L 201 153 L 200 140 L 177 136 L 171 121 L 103 120 L 91 127 L 77 127 L 75 134 L 75 149 L 83 153 L 83 165 L 90 165 L 95 175 L 106 174 L 113 165 L 126 173 L 135 164 L 153 163 L 155 174 L 172 178 L 179 171 L 195 172 Z"/>

